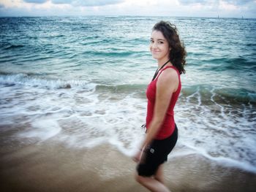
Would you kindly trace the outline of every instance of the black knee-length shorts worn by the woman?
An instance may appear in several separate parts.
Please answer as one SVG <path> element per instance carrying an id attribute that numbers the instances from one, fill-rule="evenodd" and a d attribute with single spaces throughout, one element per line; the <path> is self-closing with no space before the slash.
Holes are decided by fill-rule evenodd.
<path id="1" fill-rule="evenodd" d="M 154 139 L 144 150 L 137 172 L 140 176 L 151 177 L 156 174 L 159 165 L 167 161 L 167 155 L 173 150 L 178 139 L 178 128 L 166 139 Z"/>

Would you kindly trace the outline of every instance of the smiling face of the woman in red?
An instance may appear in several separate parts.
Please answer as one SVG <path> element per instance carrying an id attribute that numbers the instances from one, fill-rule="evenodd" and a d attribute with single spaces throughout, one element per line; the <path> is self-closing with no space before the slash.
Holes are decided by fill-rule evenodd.
<path id="1" fill-rule="evenodd" d="M 152 31 L 149 48 L 153 58 L 158 61 L 167 61 L 169 59 L 169 43 L 161 31 Z"/>

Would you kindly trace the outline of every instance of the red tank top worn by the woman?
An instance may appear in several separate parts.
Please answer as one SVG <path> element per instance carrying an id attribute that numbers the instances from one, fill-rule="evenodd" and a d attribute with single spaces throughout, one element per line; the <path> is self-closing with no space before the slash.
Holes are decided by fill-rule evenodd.
<path id="1" fill-rule="evenodd" d="M 165 118 L 162 122 L 161 127 L 159 128 L 157 136 L 154 137 L 154 139 L 165 139 L 165 138 L 169 137 L 171 134 L 173 134 L 173 131 L 175 129 L 173 108 L 178 99 L 178 95 L 181 92 L 181 78 L 180 78 L 180 74 L 179 74 L 178 70 L 175 68 L 175 66 L 165 66 L 165 68 L 159 72 L 159 75 L 163 71 L 165 71 L 165 69 L 167 69 L 167 68 L 173 68 L 178 73 L 178 88 L 177 88 L 176 92 L 174 92 L 171 95 L 170 104 L 169 104 L 169 107 L 167 108 Z M 151 81 L 149 83 L 148 88 L 146 90 L 146 96 L 148 99 L 146 128 L 149 127 L 149 124 L 151 123 L 151 120 L 152 120 L 153 114 L 154 114 L 154 104 L 155 104 L 156 94 L 157 94 L 157 80 L 158 80 L 159 75 L 157 76 L 157 78 L 155 78 L 153 81 Z"/>

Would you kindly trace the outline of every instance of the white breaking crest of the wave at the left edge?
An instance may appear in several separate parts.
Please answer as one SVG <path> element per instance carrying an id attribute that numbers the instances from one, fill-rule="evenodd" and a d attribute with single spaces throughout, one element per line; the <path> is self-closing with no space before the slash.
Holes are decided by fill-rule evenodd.
<path id="1" fill-rule="evenodd" d="M 96 86 L 86 80 L 59 80 L 45 77 L 45 74 L 10 74 L 4 72 L 0 72 L 0 85 L 28 85 L 38 88 L 85 88 L 88 91 L 94 90 Z"/>

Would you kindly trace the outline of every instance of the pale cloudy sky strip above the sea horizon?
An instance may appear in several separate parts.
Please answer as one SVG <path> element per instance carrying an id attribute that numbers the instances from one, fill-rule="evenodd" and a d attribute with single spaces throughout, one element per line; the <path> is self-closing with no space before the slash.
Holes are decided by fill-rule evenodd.
<path id="1" fill-rule="evenodd" d="M 0 16 L 45 15 L 256 18 L 256 0 L 0 0 Z"/>

